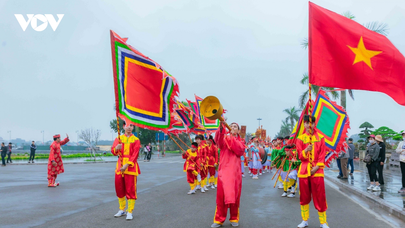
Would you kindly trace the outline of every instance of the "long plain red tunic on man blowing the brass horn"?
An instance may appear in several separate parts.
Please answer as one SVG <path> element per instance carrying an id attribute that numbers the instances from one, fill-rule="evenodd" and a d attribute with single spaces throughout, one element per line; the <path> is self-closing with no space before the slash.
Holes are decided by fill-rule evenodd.
<path id="1" fill-rule="evenodd" d="M 221 131 L 221 128 L 215 132 L 215 142 L 221 150 L 218 184 L 223 188 L 223 192 L 218 190 L 217 195 L 221 194 L 224 198 L 224 202 L 217 202 L 217 204 L 235 203 L 239 206 L 242 190 L 241 156 L 245 153 L 245 145 L 239 138 L 225 136 L 225 129 Z M 218 198 L 217 196 L 217 200 Z"/>

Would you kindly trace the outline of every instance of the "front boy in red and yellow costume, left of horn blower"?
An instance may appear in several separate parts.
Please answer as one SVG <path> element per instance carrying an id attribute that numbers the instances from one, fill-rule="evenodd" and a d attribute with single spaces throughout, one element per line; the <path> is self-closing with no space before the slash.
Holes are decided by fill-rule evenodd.
<path id="1" fill-rule="evenodd" d="M 187 194 L 196 194 L 196 191 L 194 188 L 197 185 L 197 181 L 201 181 L 201 176 L 200 176 L 200 161 L 197 156 L 197 148 L 198 144 L 196 142 L 193 142 L 191 144 L 191 148 L 188 149 L 187 151 L 183 151 L 183 154 L 181 155 L 183 159 L 185 159 L 184 162 L 184 172 L 187 172 L 187 182 L 190 184 L 191 190 Z"/>

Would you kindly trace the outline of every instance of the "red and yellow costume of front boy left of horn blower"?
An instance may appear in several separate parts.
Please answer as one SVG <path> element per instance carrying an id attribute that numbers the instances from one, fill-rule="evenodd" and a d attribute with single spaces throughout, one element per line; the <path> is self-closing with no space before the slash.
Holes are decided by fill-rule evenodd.
<path id="1" fill-rule="evenodd" d="M 191 149 L 188 149 L 182 157 L 185 159 L 184 172 L 187 174 L 187 182 L 190 184 L 191 190 L 194 190 L 197 185 L 197 175 L 200 172 L 197 151 L 192 152 Z"/>

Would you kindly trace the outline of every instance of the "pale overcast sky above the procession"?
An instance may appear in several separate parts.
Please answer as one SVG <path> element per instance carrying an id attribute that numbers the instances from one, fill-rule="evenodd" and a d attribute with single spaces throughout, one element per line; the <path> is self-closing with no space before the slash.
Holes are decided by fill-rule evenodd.
<path id="1" fill-rule="evenodd" d="M 314 0 L 350 10 L 360 24 L 382 21 L 405 53 L 405 1 Z M 14 14 L 64 14 L 56 31 L 23 31 Z M 40 22 L 38 21 L 38 25 Z M 270 136 L 298 106 L 308 70 L 308 2 L 303 1 L 1 1 L 0 136 L 45 141 L 94 127 L 111 140 L 114 89 L 109 30 L 149 56 L 180 85 L 180 99 L 217 96 L 228 120 Z M 398 82 L 399 88 L 403 82 Z M 384 85 L 382 85 L 384 86 Z M 229 95 L 229 92 L 237 96 Z M 405 107 L 380 92 L 347 98 L 350 134 L 361 123 L 405 129 Z M 339 103 L 339 101 L 338 101 Z M 373 106 L 378 106 L 375 108 Z M 115 137 L 115 134 L 114 134 Z"/>

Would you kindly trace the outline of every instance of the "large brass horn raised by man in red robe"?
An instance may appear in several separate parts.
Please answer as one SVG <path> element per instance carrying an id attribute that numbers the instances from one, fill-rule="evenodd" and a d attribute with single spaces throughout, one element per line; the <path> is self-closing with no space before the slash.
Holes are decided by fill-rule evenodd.
<path id="1" fill-rule="evenodd" d="M 200 112 L 201 115 L 205 116 L 209 120 L 219 119 L 220 121 L 224 121 L 224 118 L 222 118 L 224 108 L 222 108 L 222 104 L 217 97 L 208 96 L 204 98 L 204 100 L 200 103 Z M 227 123 L 225 123 L 225 126 L 230 130 Z"/>

